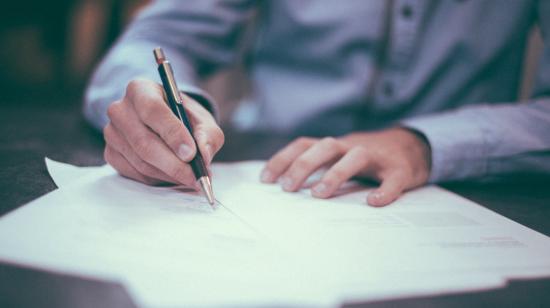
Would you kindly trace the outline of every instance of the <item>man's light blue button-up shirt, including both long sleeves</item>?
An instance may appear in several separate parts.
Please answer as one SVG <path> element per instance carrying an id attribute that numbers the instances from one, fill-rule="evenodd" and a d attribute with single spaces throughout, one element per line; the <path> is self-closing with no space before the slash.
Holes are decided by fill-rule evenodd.
<path id="1" fill-rule="evenodd" d="M 536 24 L 545 49 L 532 99 L 517 104 Z M 161 46 L 181 90 L 214 109 L 198 81 L 243 62 L 253 88 L 237 112 L 245 129 L 320 136 L 404 125 L 430 143 L 431 182 L 549 173 L 549 36 L 546 0 L 156 1 L 97 68 L 84 112 L 101 128 L 128 81 L 159 81 Z"/>

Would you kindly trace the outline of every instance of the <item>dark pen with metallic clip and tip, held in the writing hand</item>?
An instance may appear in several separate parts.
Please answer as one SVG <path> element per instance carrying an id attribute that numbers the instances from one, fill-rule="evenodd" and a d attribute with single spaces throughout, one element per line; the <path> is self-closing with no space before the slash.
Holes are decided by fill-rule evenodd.
<path id="1" fill-rule="evenodd" d="M 155 48 L 153 50 L 153 54 L 155 55 L 155 60 L 158 64 L 158 71 L 160 74 L 160 79 L 162 80 L 162 86 L 164 87 L 164 91 L 166 92 L 168 105 L 170 106 L 170 109 L 172 109 L 174 115 L 176 115 L 176 117 L 178 117 L 183 122 L 183 125 L 187 127 L 189 133 L 191 133 L 191 138 L 193 138 L 195 147 L 197 148 L 197 154 L 189 164 L 191 165 L 191 169 L 193 169 L 193 174 L 195 175 L 195 178 L 200 183 L 201 189 L 204 192 L 208 203 L 210 203 L 212 208 L 214 208 L 214 192 L 212 191 L 212 182 L 210 180 L 210 177 L 208 176 L 208 171 L 206 170 L 204 159 L 202 158 L 199 147 L 197 146 L 195 136 L 193 136 L 193 127 L 191 126 L 189 117 L 185 112 L 185 108 L 183 108 L 183 99 L 178 90 L 178 85 L 176 84 L 176 79 L 174 78 L 172 66 L 170 65 L 170 62 L 166 59 L 166 56 L 164 56 L 162 48 Z"/>

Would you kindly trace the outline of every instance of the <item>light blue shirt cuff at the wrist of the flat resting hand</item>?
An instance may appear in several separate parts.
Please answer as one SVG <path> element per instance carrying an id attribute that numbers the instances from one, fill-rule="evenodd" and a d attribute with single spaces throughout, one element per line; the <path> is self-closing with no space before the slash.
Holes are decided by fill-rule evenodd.
<path id="1" fill-rule="evenodd" d="M 481 121 L 472 112 L 450 112 L 401 122 L 420 132 L 431 148 L 428 182 L 480 177 L 487 173 L 487 141 Z"/>

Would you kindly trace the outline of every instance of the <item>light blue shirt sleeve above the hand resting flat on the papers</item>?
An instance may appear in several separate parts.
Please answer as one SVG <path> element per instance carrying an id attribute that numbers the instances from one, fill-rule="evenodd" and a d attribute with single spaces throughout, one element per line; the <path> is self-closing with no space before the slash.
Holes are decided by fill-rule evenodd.
<path id="1" fill-rule="evenodd" d="M 538 5 L 544 50 L 531 101 L 478 105 L 403 121 L 430 144 L 430 182 L 550 173 L 550 1 Z"/>

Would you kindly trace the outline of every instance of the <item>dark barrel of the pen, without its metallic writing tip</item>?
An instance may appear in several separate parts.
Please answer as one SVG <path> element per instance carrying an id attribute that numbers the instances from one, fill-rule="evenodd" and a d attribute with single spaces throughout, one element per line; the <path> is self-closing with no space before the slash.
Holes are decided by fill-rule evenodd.
<path id="1" fill-rule="evenodd" d="M 170 107 L 174 115 L 183 122 L 183 125 L 185 125 L 191 136 L 193 136 L 193 126 L 191 125 L 191 121 L 189 121 L 189 117 L 187 116 L 185 108 L 183 107 L 183 102 L 181 101 L 178 86 L 176 85 L 174 78 L 169 77 L 168 75 L 170 74 L 170 76 L 173 76 L 170 64 L 167 61 L 159 64 L 158 71 L 160 74 L 160 78 L 162 79 L 164 91 L 166 92 L 166 100 L 168 102 L 168 106 Z M 194 137 L 192 139 L 195 143 L 195 148 L 197 149 L 197 152 L 195 154 L 195 157 L 191 160 L 191 162 L 189 162 L 189 164 L 191 165 L 191 169 L 193 170 L 195 178 L 198 180 L 203 176 L 208 176 L 208 171 L 206 170 L 206 164 L 199 151 L 197 142 L 195 141 Z"/>

